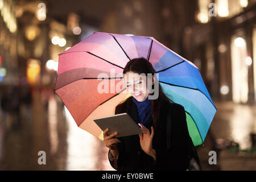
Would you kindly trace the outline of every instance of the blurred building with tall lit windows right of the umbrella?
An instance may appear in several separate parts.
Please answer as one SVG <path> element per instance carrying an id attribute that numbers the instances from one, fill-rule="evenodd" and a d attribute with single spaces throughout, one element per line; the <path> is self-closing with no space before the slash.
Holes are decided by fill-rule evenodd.
<path id="1" fill-rule="evenodd" d="M 184 27 L 184 50 L 214 98 L 256 101 L 255 2 L 198 0 L 197 22 Z"/>

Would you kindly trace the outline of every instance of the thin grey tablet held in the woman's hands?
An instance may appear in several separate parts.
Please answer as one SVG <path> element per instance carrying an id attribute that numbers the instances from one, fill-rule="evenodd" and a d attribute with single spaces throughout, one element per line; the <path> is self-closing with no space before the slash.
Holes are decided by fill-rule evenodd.
<path id="1" fill-rule="evenodd" d="M 118 132 L 115 137 L 126 137 L 141 134 L 142 130 L 127 113 L 110 115 L 108 117 L 94 118 L 93 121 L 102 131 L 109 129 L 108 135 Z"/>

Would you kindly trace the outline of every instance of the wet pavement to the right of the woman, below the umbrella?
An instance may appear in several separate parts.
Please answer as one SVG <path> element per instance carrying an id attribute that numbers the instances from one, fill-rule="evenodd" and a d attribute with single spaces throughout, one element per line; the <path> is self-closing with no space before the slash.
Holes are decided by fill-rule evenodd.
<path id="1" fill-rule="evenodd" d="M 214 102 L 217 113 L 205 138 L 204 146 L 197 152 L 203 170 L 256 170 L 256 152 L 242 152 L 253 147 L 250 134 L 256 133 L 256 106 Z M 233 148 L 220 148 L 219 140 L 230 140 L 238 144 Z M 233 150 L 232 150 L 233 149 Z M 209 151 L 216 151 L 217 164 L 210 165 Z"/>

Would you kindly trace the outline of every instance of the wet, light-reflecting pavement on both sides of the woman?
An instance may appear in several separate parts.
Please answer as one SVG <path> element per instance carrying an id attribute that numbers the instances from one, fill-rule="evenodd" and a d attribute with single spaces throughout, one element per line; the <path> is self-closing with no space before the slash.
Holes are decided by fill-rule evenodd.
<path id="1" fill-rule="evenodd" d="M 218 111 L 204 146 L 197 152 L 203 170 L 256 170 L 256 155 L 230 152 L 225 141 L 239 151 L 253 147 L 256 106 L 214 102 Z M 114 170 L 104 143 L 77 127 L 59 97 L 34 90 L 31 105 L 20 105 L 18 113 L 0 112 L 0 170 Z M 222 143 L 221 143 L 222 142 Z M 222 148 L 220 147 L 222 144 Z M 217 164 L 208 163 L 216 151 Z M 46 165 L 38 164 L 39 151 L 46 152 Z"/>

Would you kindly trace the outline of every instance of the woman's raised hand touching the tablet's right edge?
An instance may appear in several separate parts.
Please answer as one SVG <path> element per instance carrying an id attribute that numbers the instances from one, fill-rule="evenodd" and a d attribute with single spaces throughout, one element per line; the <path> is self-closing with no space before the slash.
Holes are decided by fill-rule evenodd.
<path id="1" fill-rule="evenodd" d="M 150 134 L 150 131 L 146 127 L 144 127 L 141 123 L 139 123 L 139 126 L 141 126 L 141 130 L 143 131 L 142 134 L 139 134 L 139 142 L 141 143 L 141 148 L 146 154 L 152 156 L 155 159 L 156 158 L 155 150 L 152 148 L 154 128 L 151 126 L 151 134 Z"/>

